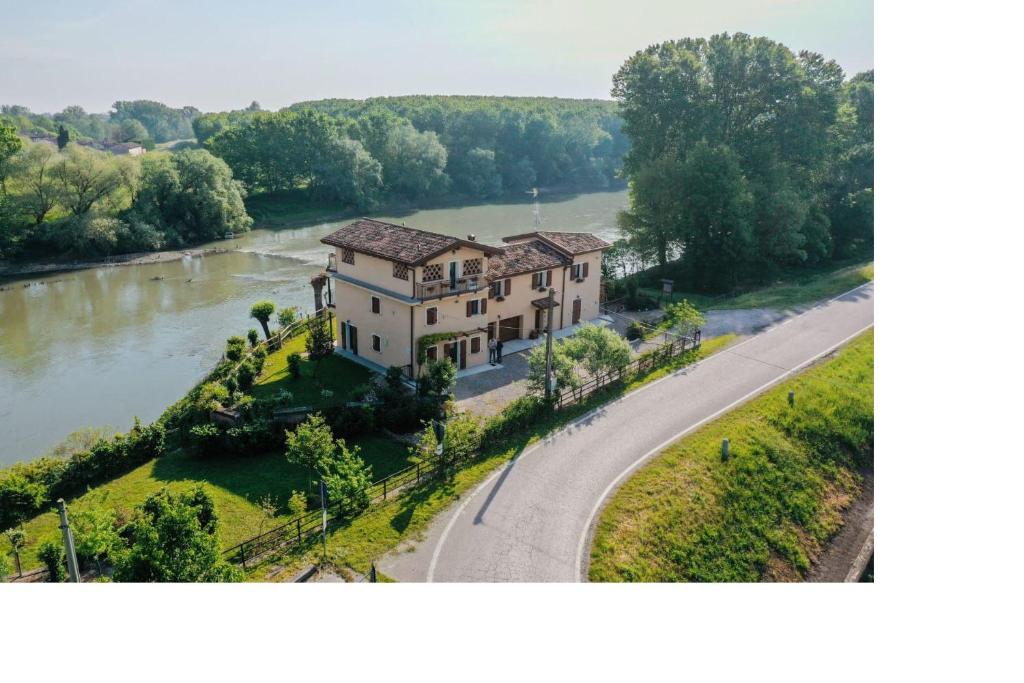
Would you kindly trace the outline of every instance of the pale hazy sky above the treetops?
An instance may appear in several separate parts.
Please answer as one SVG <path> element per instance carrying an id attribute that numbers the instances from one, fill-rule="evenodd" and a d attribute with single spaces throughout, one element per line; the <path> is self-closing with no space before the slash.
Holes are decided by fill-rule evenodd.
<path id="1" fill-rule="evenodd" d="M 203 111 L 395 94 L 609 96 L 633 52 L 742 31 L 873 68 L 870 0 L 47 0 L 3 10 L 0 103 Z"/>

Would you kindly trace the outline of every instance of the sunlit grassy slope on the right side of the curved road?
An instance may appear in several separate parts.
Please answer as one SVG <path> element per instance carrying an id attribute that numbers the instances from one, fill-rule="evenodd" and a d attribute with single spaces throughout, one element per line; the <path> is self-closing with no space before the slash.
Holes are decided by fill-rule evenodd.
<path id="1" fill-rule="evenodd" d="M 601 514 L 591 581 L 801 580 L 873 462 L 873 348 L 867 332 L 634 474 Z"/>

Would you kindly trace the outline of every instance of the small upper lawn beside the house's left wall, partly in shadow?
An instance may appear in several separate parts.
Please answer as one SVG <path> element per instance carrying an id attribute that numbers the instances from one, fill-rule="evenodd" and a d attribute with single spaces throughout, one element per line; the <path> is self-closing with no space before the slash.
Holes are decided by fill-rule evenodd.
<path id="1" fill-rule="evenodd" d="M 373 373 L 369 370 L 334 354 L 318 361 L 302 358 L 299 361 L 300 377 L 292 377 L 288 370 L 288 355 L 305 352 L 306 336 L 302 334 L 292 337 L 281 350 L 266 357 L 263 372 L 253 386 L 253 396 L 273 398 L 279 391 L 285 389 L 294 396 L 293 404 L 316 408 L 350 400 L 353 397 L 352 390 L 370 381 Z M 330 389 L 334 395 L 325 398 L 322 394 L 324 389 Z"/>

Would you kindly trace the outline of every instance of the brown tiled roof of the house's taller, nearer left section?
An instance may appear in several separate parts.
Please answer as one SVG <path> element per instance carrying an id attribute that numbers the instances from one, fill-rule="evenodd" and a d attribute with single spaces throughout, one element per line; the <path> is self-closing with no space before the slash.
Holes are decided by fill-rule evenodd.
<path id="1" fill-rule="evenodd" d="M 346 247 L 371 256 L 379 256 L 408 265 L 419 265 L 449 249 L 467 246 L 488 254 L 500 250 L 447 234 L 418 230 L 415 227 L 395 225 L 372 218 L 345 225 L 327 236 L 322 243 L 332 247 Z"/>

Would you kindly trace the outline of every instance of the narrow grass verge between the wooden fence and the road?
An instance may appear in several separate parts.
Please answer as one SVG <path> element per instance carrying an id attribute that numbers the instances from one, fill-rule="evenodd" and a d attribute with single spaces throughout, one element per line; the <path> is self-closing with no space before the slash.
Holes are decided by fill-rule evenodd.
<path id="1" fill-rule="evenodd" d="M 531 428 L 510 438 L 498 451 L 481 454 L 470 466 L 459 470 L 451 479 L 431 480 L 419 488 L 396 497 L 393 501 L 372 508 L 356 519 L 346 522 L 328 533 L 328 564 L 344 573 L 348 567 L 367 572 L 377 558 L 394 550 L 402 543 L 416 541 L 430 525 L 434 517 L 445 510 L 467 492 L 472 490 L 487 474 L 508 462 L 525 447 L 560 429 L 582 415 L 609 400 L 636 389 L 648 382 L 664 377 L 683 366 L 691 365 L 721 350 L 735 341 L 733 335 L 724 335 L 705 342 L 700 349 L 677 356 L 672 362 L 650 373 L 634 378 L 629 383 L 613 384 L 588 396 L 583 403 L 552 413 L 547 419 L 538 421 Z M 321 561 L 321 546 L 316 539 L 300 547 L 293 547 L 283 557 L 272 558 L 250 572 L 253 581 L 265 581 L 273 577 L 287 580 L 303 566 Z M 281 570 L 284 567 L 284 570 Z"/>

